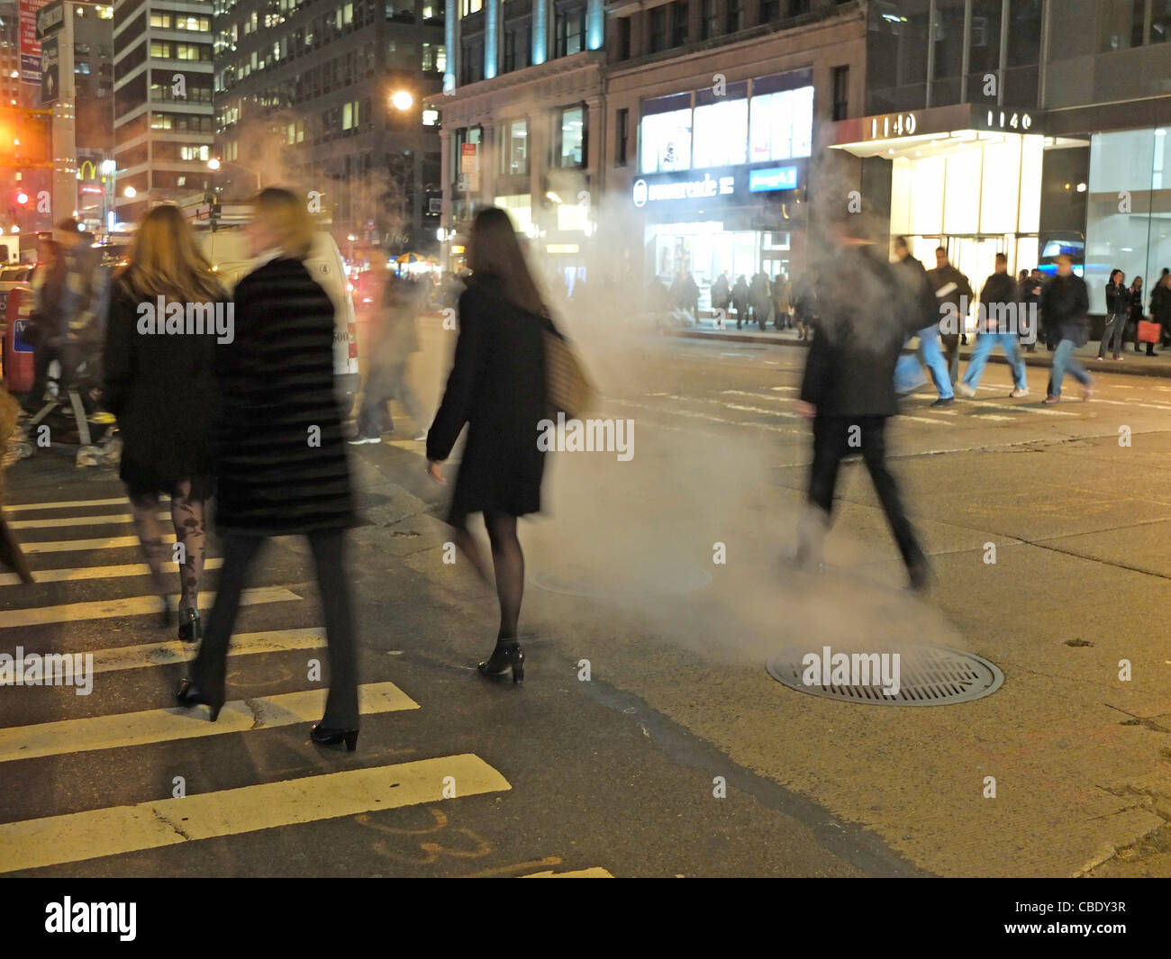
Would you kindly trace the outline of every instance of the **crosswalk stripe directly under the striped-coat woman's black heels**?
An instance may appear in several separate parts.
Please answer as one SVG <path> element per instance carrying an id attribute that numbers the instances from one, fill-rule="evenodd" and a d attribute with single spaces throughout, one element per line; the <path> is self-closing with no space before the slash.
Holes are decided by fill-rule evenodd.
<path id="1" fill-rule="evenodd" d="M 364 714 L 419 708 L 419 704 L 393 683 L 358 686 L 358 706 Z M 207 721 L 204 706 L 196 710 L 176 706 L 12 726 L 0 729 L 0 762 L 316 722 L 324 708 L 326 690 L 307 690 L 226 703 L 215 722 Z"/>

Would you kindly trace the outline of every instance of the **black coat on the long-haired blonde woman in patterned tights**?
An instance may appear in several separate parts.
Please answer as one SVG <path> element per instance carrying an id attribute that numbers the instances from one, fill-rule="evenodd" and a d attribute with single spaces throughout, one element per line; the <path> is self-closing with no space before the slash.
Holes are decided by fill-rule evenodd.
<path id="1" fill-rule="evenodd" d="M 118 419 L 118 475 L 131 494 L 170 493 L 193 481 L 206 494 L 212 472 L 208 434 L 219 402 L 214 334 L 138 333 L 138 295 L 116 282 L 103 355 L 105 406 Z M 220 302 L 227 303 L 221 293 Z M 227 307 L 225 307 L 227 309 Z"/>

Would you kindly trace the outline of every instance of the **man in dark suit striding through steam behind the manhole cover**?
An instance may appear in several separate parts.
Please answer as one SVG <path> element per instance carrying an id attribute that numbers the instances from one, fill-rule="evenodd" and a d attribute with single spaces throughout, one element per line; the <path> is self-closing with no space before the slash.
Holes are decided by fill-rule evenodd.
<path id="1" fill-rule="evenodd" d="M 886 465 L 886 420 L 898 412 L 895 364 L 908 336 L 923 323 L 918 297 L 874 244 L 837 227 L 831 278 L 817 290 L 819 329 L 801 382 L 800 411 L 813 417 L 813 464 L 808 507 L 797 530 L 797 562 L 822 567 L 822 546 L 834 506 L 841 461 L 861 453 L 912 589 L 927 584 L 930 569 Z"/>

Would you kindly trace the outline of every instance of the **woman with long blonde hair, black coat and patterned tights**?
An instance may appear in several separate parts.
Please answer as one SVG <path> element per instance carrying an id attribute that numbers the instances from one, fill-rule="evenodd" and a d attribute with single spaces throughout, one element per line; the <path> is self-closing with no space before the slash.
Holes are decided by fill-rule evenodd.
<path id="1" fill-rule="evenodd" d="M 130 263 L 114 282 L 105 331 L 105 405 L 123 440 L 118 475 L 163 600 L 164 626 L 172 615 L 163 574 L 171 550 L 163 542 L 158 504 L 163 494 L 171 498 L 182 547 L 179 638 L 189 643 L 200 636 L 204 502 L 211 493 L 207 433 L 218 400 L 213 363 L 220 349 L 214 317 L 230 315 L 226 299 L 183 214 L 157 206 L 138 227 Z M 189 315 L 204 321 L 203 331 L 189 324 Z"/>

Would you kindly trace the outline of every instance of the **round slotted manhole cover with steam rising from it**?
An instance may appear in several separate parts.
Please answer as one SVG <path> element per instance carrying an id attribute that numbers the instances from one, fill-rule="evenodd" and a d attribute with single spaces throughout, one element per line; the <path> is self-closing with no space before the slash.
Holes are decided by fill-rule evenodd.
<path id="1" fill-rule="evenodd" d="M 987 659 L 947 646 L 897 652 L 786 650 L 768 660 L 778 683 L 797 692 L 879 706 L 944 706 L 994 693 L 1005 674 Z"/>

